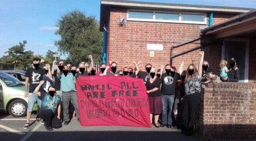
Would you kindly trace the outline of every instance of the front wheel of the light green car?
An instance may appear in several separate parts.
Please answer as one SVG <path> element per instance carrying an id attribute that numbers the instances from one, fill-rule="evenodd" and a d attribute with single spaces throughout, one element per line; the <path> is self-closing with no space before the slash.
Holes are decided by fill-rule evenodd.
<path id="1" fill-rule="evenodd" d="M 8 107 L 8 112 L 13 117 L 24 117 L 27 113 L 27 102 L 21 99 L 14 100 Z"/>

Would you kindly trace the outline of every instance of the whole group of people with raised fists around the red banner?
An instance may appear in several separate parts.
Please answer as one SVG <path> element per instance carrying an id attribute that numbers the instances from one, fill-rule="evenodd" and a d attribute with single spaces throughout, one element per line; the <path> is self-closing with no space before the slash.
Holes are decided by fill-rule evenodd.
<path id="1" fill-rule="evenodd" d="M 209 63 L 204 61 L 204 52 L 200 52 L 198 67 L 192 63 L 186 70 L 182 70 L 185 59 L 182 60 L 179 70 L 169 64 L 160 69 L 154 68 L 150 63 L 145 65 L 145 72 L 139 70 L 141 62 L 133 61 L 135 68 L 124 67 L 117 71 L 117 62 L 109 61 L 109 65 L 102 63 L 100 70 L 96 72 L 92 55 L 89 55 L 91 67 L 86 70 L 88 64 L 81 62 L 76 66 L 64 65 L 63 61 L 54 61 L 52 69 L 50 65 L 40 68 L 40 58 L 34 57 L 33 67 L 26 71 L 25 97 L 28 97 L 27 122 L 24 129 L 29 127 L 29 118 L 35 101 L 40 110 L 38 118 L 41 118 L 46 130 L 61 127 L 61 107 L 63 107 L 64 125 L 70 123 L 69 113 L 75 111 L 79 118 L 75 81 L 80 76 L 90 75 L 129 75 L 133 78 L 143 79 L 147 88 L 150 105 L 150 121 L 155 127 L 175 129 L 178 126 L 182 133 L 193 134 L 194 121 L 200 103 L 201 78 L 204 74 L 212 72 Z M 226 69 L 227 61 L 221 61 L 221 78 L 223 81 L 238 81 L 239 69 L 235 59 L 230 61 L 230 69 Z M 228 75 L 225 75 L 228 73 Z M 29 91 L 28 91 L 29 84 Z M 71 107 L 70 108 L 70 103 Z M 161 114 L 161 119 L 159 120 Z M 161 124 L 159 124 L 161 121 Z"/>

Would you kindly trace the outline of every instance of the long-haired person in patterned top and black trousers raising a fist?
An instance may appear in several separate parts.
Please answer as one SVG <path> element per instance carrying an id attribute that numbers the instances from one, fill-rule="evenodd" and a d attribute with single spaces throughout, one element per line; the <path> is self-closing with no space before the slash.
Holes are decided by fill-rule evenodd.
<path id="1" fill-rule="evenodd" d="M 194 121 L 200 104 L 202 65 L 204 52 L 200 52 L 198 69 L 194 64 L 187 67 L 185 82 L 185 96 L 182 99 L 183 105 L 183 128 L 182 132 L 187 136 L 193 135 Z"/>

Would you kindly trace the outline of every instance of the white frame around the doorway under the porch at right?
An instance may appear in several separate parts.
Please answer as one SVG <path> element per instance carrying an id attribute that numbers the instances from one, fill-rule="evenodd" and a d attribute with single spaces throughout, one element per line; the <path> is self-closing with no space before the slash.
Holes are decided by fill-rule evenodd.
<path id="1" fill-rule="evenodd" d="M 240 38 L 228 38 L 223 40 L 222 45 L 222 54 L 221 54 L 221 60 L 225 57 L 225 41 L 240 41 L 246 43 L 246 49 L 245 49 L 245 80 L 239 80 L 239 82 L 248 82 L 249 79 L 249 39 L 240 39 Z M 226 60 L 229 61 L 229 60 Z"/>

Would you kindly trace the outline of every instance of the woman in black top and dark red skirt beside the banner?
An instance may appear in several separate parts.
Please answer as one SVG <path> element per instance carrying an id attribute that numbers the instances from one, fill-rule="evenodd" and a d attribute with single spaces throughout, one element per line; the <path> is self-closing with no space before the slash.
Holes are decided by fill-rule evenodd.
<path id="1" fill-rule="evenodd" d="M 156 76 L 155 68 L 150 70 L 150 78 L 146 82 L 147 93 L 149 95 L 149 105 L 150 105 L 150 121 L 153 123 L 153 114 L 154 114 L 154 125 L 159 128 L 159 114 L 162 110 L 161 103 L 161 80 Z"/>

